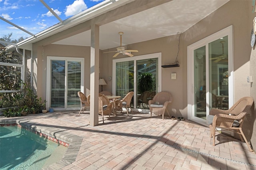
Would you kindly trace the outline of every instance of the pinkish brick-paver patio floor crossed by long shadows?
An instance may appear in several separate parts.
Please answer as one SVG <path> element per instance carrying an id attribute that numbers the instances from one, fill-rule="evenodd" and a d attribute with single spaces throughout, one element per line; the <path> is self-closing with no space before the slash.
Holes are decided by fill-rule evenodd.
<path id="1" fill-rule="evenodd" d="M 70 145 L 62 160 L 45 170 L 256 169 L 256 154 L 245 142 L 217 133 L 212 146 L 209 127 L 146 113 L 99 116 L 89 126 L 89 112 L 65 111 L 3 118 Z"/>

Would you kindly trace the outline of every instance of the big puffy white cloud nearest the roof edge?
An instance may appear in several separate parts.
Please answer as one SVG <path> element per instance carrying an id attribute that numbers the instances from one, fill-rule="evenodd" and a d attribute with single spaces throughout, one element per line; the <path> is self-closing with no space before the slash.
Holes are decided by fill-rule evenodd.
<path id="1" fill-rule="evenodd" d="M 74 16 L 86 9 L 87 9 L 87 6 L 84 3 L 84 0 L 75 0 L 73 4 L 66 6 L 65 15 Z"/>

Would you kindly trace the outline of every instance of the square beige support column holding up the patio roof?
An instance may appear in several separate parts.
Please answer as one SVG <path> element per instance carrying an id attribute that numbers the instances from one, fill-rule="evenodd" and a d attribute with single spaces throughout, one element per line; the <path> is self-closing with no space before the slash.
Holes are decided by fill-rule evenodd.
<path id="1" fill-rule="evenodd" d="M 99 124 L 99 42 L 100 27 L 91 25 L 91 62 L 90 62 L 90 126 Z"/>

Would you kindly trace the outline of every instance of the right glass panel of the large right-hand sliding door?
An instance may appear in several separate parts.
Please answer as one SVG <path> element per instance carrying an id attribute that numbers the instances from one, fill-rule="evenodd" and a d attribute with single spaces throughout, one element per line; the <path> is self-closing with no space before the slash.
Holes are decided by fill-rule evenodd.
<path id="1" fill-rule="evenodd" d="M 228 109 L 228 36 L 209 43 L 211 108 Z"/>

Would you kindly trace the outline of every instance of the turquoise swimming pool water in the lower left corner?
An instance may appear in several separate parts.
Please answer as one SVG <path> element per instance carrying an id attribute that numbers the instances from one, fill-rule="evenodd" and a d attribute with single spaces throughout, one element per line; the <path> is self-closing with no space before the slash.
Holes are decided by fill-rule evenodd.
<path id="1" fill-rule="evenodd" d="M 24 128 L 0 127 L 1 170 L 40 170 L 60 160 L 66 149 Z"/>

